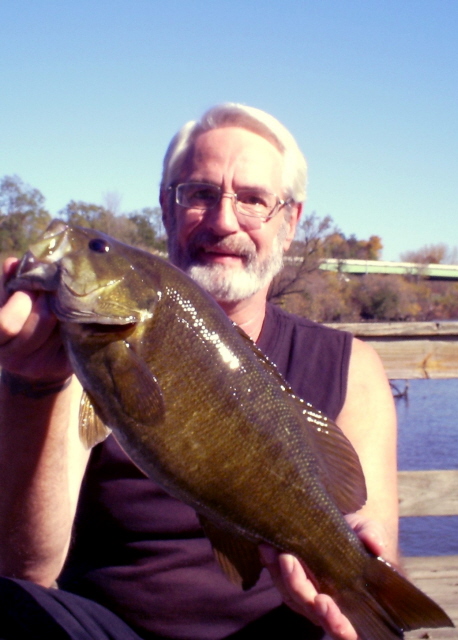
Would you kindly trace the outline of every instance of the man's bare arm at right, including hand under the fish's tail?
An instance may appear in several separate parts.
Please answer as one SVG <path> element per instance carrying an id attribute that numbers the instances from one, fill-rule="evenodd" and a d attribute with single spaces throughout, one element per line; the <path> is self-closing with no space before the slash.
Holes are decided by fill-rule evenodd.
<path id="1" fill-rule="evenodd" d="M 354 339 L 345 404 L 337 424 L 355 447 L 366 478 L 368 500 L 349 524 L 376 555 L 398 561 L 398 498 L 396 412 L 393 396 L 378 355 Z M 318 594 L 300 562 L 263 547 L 268 567 L 283 600 L 292 609 L 322 626 L 328 636 L 357 640 L 357 634 L 335 602 Z"/>

